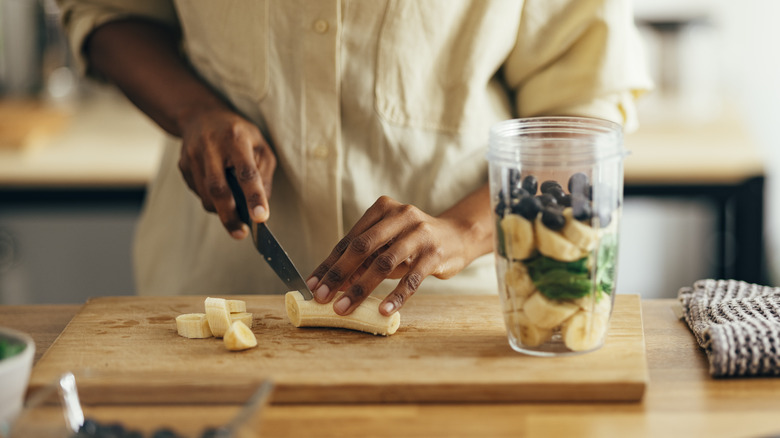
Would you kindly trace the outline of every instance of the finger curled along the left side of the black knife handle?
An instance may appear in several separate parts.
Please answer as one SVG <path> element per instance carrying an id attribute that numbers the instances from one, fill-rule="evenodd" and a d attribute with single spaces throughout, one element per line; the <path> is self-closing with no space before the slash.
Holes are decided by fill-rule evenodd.
<path id="1" fill-rule="evenodd" d="M 222 225 L 236 239 L 246 236 L 244 223 L 236 211 L 236 201 L 225 178 L 225 164 L 222 157 L 212 148 L 206 148 L 203 165 L 202 184 L 206 195 L 217 210 Z"/>

